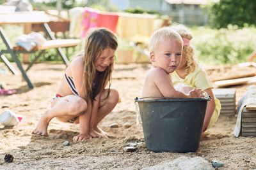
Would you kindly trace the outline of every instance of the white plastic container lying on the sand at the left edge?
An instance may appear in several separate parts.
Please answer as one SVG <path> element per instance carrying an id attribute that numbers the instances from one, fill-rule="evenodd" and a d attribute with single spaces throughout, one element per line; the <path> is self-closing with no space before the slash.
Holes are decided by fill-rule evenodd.
<path id="1" fill-rule="evenodd" d="M 13 125 L 19 124 L 19 118 L 11 110 L 4 110 L 0 115 L 0 124 L 4 127 L 11 127 Z"/>

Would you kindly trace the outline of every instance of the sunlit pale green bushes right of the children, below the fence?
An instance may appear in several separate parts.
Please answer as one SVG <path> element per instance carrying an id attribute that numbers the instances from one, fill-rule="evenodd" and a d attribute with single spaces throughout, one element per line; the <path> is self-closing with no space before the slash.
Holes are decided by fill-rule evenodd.
<path id="1" fill-rule="evenodd" d="M 256 29 L 210 29 L 195 27 L 191 31 L 194 38 L 191 44 L 196 49 L 196 57 L 205 64 L 236 64 L 246 62 L 246 58 L 256 50 Z"/>

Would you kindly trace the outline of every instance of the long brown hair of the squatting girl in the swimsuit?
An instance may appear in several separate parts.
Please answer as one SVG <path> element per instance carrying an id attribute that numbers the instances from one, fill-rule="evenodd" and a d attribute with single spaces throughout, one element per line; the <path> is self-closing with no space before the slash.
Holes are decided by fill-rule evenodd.
<path id="1" fill-rule="evenodd" d="M 100 90 L 104 89 L 106 83 L 108 83 L 109 96 L 113 63 L 109 64 L 108 68 L 103 72 L 97 71 L 95 67 L 95 62 L 106 48 L 113 50 L 117 48 L 117 39 L 113 32 L 106 28 L 97 28 L 88 32 L 85 39 L 83 57 L 83 88 L 86 101 L 89 99 L 92 101 L 99 94 Z"/>

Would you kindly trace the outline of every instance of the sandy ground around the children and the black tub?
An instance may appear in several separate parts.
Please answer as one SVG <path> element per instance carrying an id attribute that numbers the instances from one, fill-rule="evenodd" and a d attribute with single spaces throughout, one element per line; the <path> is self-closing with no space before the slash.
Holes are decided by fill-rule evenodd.
<path id="1" fill-rule="evenodd" d="M 4 64 L 1 63 L 0 67 L 4 67 Z M 256 73 L 256 68 L 252 66 L 204 67 L 212 80 Z M 112 87 L 120 93 L 121 102 L 100 123 L 100 127 L 110 137 L 79 143 L 72 142 L 72 136 L 78 133 L 79 126 L 55 119 L 49 124 L 48 137 L 31 134 L 56 93 L 65 70 L 63 64 L 35 64 L 28 71 L 35 89 L 29 89 L 20 75 L 14 76 L 10 71 L 0 74 L 1 81 L 17 89 L 17 94 L 0 96 L 0 111 L 9 109 L 23 116 L 22 122 L 15 127 L 4 128 L 0 125 L 0 169 L 142 169 L 182 156 L 202 157 L 209 164 L 212 160 L 218 160 L 224 164 L 219 169 L 256 168 L 256 138 L 234 137 L 236 115 L 221 115 L 217 124 L 205 133 L 195 153 L 155 153 L 147 150 L 134 98 L 140 97 L 149 68 L 149 64 L 115 65 Z M 249 85 L 232 87 L 237 89 L 236 101 L 239 101 Z M 118 124 L 117 128 L 110 127 L 114 123 Z M 125 123 L 131 124 L 131 127 L 126 128 Z M 69 141 L 70 145 L 64 146 L 64 141 Z M 137 144 L 136 151 L 124 152 L 123 148 L 130 143 Z M 4 162 L 6 153 L 13 155 L 12 163 Z"/>

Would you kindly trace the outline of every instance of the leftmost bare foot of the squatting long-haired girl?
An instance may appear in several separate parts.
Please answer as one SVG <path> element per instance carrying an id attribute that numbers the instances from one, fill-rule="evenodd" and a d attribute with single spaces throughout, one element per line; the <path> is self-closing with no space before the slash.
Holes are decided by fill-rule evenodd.
<path id="1" fill-rule="evenodd" d="M 36 129 L 32 132 L 41 136 L 47 136 L 47 127 L 51 119 L 46 116 L 46 113 L 40 118 Z"/>

